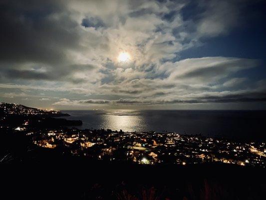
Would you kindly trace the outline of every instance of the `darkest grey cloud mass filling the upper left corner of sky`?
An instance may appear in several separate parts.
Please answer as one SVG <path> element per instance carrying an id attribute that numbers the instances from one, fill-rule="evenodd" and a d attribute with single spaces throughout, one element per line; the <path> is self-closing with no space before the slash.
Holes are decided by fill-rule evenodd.
<path id="1" fill-rule="evenodd" d="M 57 2 L 1 1 L 1 61 L 60 63 L 66 58 L 64 49 L 78 45 L 73 32 L 78 24 Z"/>

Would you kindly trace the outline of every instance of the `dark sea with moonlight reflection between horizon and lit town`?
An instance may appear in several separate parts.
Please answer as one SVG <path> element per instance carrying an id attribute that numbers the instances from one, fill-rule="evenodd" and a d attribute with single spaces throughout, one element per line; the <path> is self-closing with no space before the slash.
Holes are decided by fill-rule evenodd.
<path id="1" fill-rule="evenodd" d="M 236 139 L 266 139 L 266 110 L 61 110 L 78 128 L 175 131 Z"/>

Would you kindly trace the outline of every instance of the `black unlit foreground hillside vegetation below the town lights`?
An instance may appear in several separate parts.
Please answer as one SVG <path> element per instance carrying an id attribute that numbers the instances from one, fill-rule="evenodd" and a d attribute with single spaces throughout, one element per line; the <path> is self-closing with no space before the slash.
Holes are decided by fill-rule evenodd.
<path id="1" fill-rule="evenodd" d="M 59 160 L 2 169 L 1 195 L 8 196 L 6 199 L 145 200 L 264 199 L 266 195 L 265 171 L 261 169 Z"/>

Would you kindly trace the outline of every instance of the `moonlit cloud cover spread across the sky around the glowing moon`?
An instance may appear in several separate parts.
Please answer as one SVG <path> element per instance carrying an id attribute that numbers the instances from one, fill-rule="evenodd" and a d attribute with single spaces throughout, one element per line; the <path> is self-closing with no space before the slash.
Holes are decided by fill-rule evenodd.
<path id="1" fill-rule="evenodd" d="M 245 25 L 244 1 L 2 0 L 0 99 L 39 107 L 264 102 L 266 80 L 249 75 L 259 59 L 181 56 Z"/>

